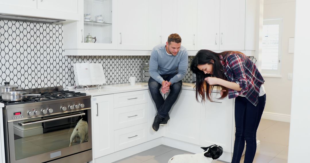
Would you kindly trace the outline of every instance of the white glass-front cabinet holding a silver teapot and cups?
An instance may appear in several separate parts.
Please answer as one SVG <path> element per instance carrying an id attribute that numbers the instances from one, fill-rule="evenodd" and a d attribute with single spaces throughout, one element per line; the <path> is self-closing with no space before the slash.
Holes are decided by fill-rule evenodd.
<path id="1" fill-rule="evenodd" d="M 78 2 L 80 21 L 63 23 L 65 55 L 91 55 L 89 49 L 117 49 L 115 0 Z"/>

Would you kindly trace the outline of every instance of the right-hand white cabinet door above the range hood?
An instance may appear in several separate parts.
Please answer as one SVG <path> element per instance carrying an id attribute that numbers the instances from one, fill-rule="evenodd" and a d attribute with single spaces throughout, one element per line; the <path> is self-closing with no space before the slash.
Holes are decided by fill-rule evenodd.
<path id="1" fill-rule="evenodd" d="M 37 8 L 43 10 L 78 13 L 77 0 L 37 0 Z"/>

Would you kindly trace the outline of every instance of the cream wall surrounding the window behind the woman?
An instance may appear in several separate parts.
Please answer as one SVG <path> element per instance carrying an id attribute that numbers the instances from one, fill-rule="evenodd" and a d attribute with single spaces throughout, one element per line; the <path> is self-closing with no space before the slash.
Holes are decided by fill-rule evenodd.
<path id="1" fill-rule="evenodd" d="M 267 95 L 263 118 L 290 121 L 292 80 L 287 74 L 293 72 L 293 53 L 288 53 L 288 40 L 294 37 L 295 0 L 264 0 L 263 19 L 282 18 L 281 76 L 264 77 Z"/>

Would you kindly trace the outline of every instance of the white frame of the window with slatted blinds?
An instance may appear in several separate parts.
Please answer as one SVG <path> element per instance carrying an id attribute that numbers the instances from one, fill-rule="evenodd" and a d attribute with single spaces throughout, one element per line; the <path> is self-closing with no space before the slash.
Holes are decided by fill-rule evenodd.
<path id="1" fill-rule="evenodd" d="M 279 25 L 279 45 L 278 45 L 278 64 L 277 70 L 270 70 L 270 69 L 261 69 L 263 76 L 275 76 L 281 77 L 281 67 L 282 67 L 282 18 L 275 18 L 275 19 L 264 19 L 264 25 Z M 264 36 L 263 36 L 264 37 Z M 263 52 L 262 52 L 263 53 Z M 262 60 L 263 64 L 263 60 Z"/>

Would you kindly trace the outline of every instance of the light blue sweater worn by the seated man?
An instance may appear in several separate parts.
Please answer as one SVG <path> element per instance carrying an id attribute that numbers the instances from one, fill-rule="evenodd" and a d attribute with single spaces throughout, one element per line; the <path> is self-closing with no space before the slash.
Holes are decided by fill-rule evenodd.
<path id="1" fill-rule="evenodd" d="M 171 84 L 182 80 L 187 74 L 188 53 L 186 48 L 181 46 L 176 56 L 166 52 L 166 44 L 155 46 L 151 52 L 149 73 L 150 76 L 162 84 L 164 79 L 159 75 L 177 73 L 170 79 Z"/>

